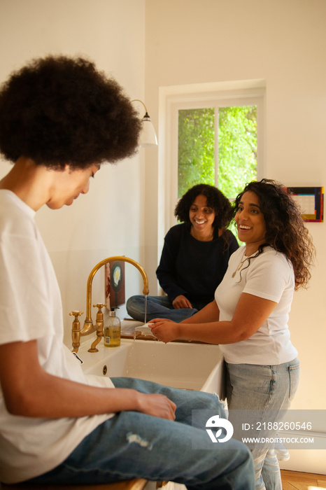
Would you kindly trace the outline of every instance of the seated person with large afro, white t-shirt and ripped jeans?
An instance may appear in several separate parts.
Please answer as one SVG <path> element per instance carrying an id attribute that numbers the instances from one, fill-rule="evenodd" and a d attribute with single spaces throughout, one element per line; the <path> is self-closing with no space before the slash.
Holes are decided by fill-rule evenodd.
<path id="1" fill-rule="evenodd" d="M 192 409 L 225 416 L 215 395 L 87 376 L 62 342 L 59 286 L 36 212 L 86 194 L 101 164 L 134 154 L 140 129 L 120 85 L 87 59 L 36 59 L 0 89 L 0 151 L 13 162 L 0 181 L 2 483 L 254 488 L 241 442 L 192 449 L 207 437 L 191 426 Z"/>

